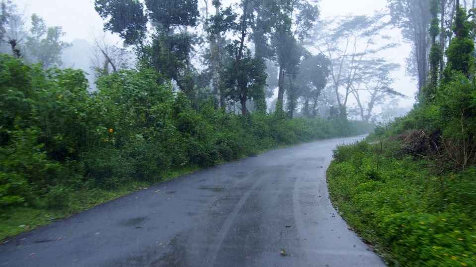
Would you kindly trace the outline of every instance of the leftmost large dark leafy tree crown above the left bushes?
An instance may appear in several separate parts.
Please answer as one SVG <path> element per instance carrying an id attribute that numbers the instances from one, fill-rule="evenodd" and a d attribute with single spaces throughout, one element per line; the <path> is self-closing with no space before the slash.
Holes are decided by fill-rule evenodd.
<path id="1" fill-rule="evenodd" d="M 136 46 L 139 66 L 175 80 L 185 92 L 193 90 L 190 81 L 195 70 L 190 64 L 190 52 L 195 40 L 186 28 L 197 23 L 197 0 L 145 0 L 146 10 L 139 0 L 96 0 L 95 7 L 107 20 L 106 30 L 118 33 L 125 44 Z M 148 35 L 149 20 L 153 32 Z"/>

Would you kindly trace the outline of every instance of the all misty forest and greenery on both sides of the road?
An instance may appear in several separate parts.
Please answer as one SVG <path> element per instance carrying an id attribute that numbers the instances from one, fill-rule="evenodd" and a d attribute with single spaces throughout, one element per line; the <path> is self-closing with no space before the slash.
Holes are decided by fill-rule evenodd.
<path id="1" fill-rule="evenodd" d="M 89 44 L 2 0 L 0 238 L 198 168 L 380 124 L 336 151 L 334 202 L 389 264 L 471 266 L 475 4 L 388 0 L 325 20 L 311 0 L 95 0 L 121 42 Z M 384 56 L 395 28 L 412 47 L 406 66 Z M 416 95 L 393 88 L 402 67 Z M 395 120 L 405 98 L 415 107 Z"/>

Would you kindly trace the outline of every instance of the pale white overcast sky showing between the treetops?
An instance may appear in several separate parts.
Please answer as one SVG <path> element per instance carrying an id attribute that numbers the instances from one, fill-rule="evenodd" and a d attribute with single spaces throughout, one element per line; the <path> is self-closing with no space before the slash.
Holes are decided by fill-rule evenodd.
<path id="1" fill-rule="evenodd" d="M 62 26 L 66 32 L 65 40 L 75 39 L 94 40 L 101 37 L 103 20 L 94 10 L 94 0 L 13 0 L 28 16 L 37 13 L 43 17 L 49 26 Z M 202 0 L 200 0 L 202 1 Z M 228 0 L 231 1 L 231 0 Z M 387 0 L 320 0 L 321 18 L 333 18 L 347 14 L 372 14 L 375 10 L 386 7 Z M 400 30 L 389 32 L 393 42 L 400 46 L 382 54 L 388 61 L 399 63 L 402 68 L 393 75 L 396 82 L 394 88 L 407 95 L 400 101 L 401 106 L 412 106 L 416 92 L 416 81 L 405 74 L 405 59 L 410 54 L 410 45 L 402 40 Z M 118 37 L 109 36 L 109 40 L 119 41 Z"/>

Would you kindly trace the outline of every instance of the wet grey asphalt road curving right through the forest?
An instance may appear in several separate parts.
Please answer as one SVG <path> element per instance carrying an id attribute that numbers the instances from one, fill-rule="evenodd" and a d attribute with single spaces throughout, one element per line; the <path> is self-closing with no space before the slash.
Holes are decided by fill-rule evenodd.
<path id="1" fill-rule="evenodd" d="M 357 139 L 158 184 L 0 245 L 0 266 L 385 266 L 328 198 L 332 150 Z"/>

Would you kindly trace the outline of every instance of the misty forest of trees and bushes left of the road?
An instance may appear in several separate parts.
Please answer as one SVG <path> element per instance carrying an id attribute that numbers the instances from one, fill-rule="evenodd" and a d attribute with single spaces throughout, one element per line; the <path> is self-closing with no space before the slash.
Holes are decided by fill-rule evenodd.
<path id="1" fill-rule="evenodd" d="M 373 43 L 382 15 L 346 18 L 313 54 L 316 4 L 204 2 L 96 0 L 123 44 L 96 39 L 90 70 L 64 66 L 60 26 L 1 2 L 0 238 L 201 168 L 369 133 L 373 106 L 400 95 L 396 66 L 372 57 L 382 47 L 324 54 L 341 39 Z M 373 98 L 349 119 L 357 83 Z"/>

